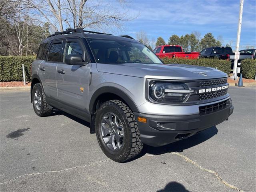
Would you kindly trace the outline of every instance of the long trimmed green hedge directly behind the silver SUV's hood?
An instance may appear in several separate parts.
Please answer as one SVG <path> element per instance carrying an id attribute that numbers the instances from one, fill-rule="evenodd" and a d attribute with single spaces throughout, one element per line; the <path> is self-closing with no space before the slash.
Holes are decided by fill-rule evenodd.
<path id="1" fill-rule="evenodd" d="M 231 62 L 228 60 L 219 59 L 208 59 L 208 58 L 198 58 L 198 59 L 186 59 L 186 58 L 162 58 L 165 64 L 187 64 L 187 65 L 197 65 L 204 67 L 217 68 L 229 75 Z"/>

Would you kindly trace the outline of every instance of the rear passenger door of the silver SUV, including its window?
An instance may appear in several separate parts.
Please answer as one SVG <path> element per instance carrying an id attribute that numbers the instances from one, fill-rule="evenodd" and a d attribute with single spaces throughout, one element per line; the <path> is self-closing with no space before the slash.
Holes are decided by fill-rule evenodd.
<path id="1" fill-rule="evenodd" d="M 56 68 L 58 63 L 63 62 L 63 41 L 53 41 L 46 54 L 45 60 L 39 66 L 38 76 L 48 98 L 57 98 Z"/>

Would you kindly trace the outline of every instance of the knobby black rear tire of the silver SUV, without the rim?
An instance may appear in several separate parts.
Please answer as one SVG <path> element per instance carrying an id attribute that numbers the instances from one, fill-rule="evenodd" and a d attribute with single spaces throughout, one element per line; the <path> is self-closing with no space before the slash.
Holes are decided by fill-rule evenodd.
<path id="1" fill-rule="evenodd" d="M 40 97 L 41 97 L 41 108 L 40 110 L 36 109 L 36 106 L 34 104 L 34 94 L 36 92 L 36 90 L 38 90 L 40 92 Z M 50 114 L 52 114 L 52 106 L 50 106 L 48 104 L 48 102 L 46 101 L 46 95 L 44 93 L 44 88 L 42 86 L 41 83 L 36 83 L 32 89 L 32 102 L 33 102 L 33 108 L 34 108 L 34 112 L 40 116 L 40 117 L 45 117 L 45 116 L 49 116 Z"/>

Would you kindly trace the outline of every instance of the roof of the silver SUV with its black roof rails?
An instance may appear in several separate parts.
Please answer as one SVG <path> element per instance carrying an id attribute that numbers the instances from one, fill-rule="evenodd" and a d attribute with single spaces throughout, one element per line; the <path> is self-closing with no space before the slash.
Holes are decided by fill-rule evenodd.
<path id="1" fill-rule="evenodd" d="M 58 40 L 62 38 L 72 38 L 72 37 L 87 37 L 87 38 L 102 38 L 102 39 L 112 39 L 112 40 L 128 40 L 133 42 L 138 42 L 134 38 L 128 35 L 123 36 L 114 36 L 112 34 L 106 34 L 101 32 L 93 32 L 82 29 L 67 29 L 64 32 L 55 32 L 52 35 L 49 35 L 46 39 L 42 40 L 42 43 L 49 42 L 51 40 Z"/>

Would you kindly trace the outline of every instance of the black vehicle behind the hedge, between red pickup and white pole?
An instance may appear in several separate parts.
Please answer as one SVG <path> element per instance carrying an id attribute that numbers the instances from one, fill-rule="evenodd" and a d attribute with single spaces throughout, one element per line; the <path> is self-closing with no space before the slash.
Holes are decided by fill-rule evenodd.
<path id="1" fill-rule="evenodd" d="M 229 54 L 233 53 L 231 47 L 209 47 L 200 52 L 200 58 L 229 59 Z"/>

